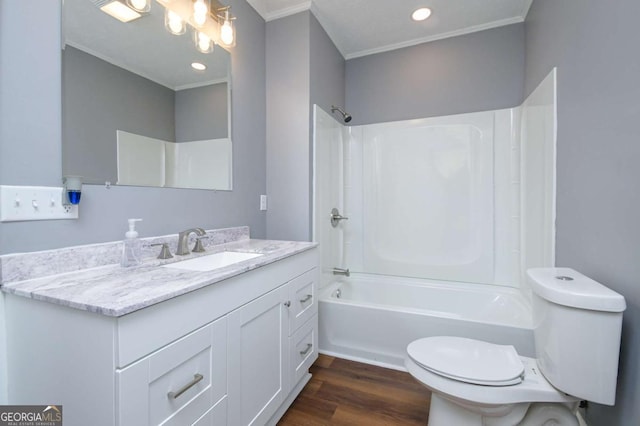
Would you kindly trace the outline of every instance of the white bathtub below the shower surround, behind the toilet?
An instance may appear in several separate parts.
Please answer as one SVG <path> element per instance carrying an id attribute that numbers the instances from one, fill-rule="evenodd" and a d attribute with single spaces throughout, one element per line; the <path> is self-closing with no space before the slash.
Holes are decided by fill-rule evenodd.
<path id="1" fill-rule="evenodd" d="M 325 286 L 319 303 L 319 350 L 328 355 L 404 370 L 411 341 L 446 335 L 534 356 L 531 305 L 512 288 L 352 274 Z"/>

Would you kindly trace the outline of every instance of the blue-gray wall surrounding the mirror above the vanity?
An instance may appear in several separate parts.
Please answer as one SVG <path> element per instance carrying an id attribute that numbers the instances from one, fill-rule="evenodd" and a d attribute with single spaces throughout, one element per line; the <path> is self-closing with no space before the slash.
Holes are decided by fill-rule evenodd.
<path id="1" fill-rule="evenodd" d="M 80 219 L 0 223 L 0 254 L 122 239 L 126 218 L 141 236 L 192 226 L 249 225 L 265 236 L 265 23 L 244 0 L 232 53 L 233 191 L 85 185 Z M 60 1 L 0 2 L 0 184 L 61 185 Z M 29 31 L 24 31 L 30 28 Z M 17 36 L 19 34 L 19 36 Z"/>

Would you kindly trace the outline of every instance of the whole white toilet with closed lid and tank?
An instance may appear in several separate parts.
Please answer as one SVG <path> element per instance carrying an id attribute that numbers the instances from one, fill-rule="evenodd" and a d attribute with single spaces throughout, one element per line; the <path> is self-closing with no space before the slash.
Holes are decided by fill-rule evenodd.
<path id="1" fill-rule="evenodd" d="M 614 404 L 624 297 L 569 268 L 527 278 L 535 359 L 461 337 L 407 347 L 407 370 L 433 391 L 429 426 L 578 425 L 578 401 Z"/>

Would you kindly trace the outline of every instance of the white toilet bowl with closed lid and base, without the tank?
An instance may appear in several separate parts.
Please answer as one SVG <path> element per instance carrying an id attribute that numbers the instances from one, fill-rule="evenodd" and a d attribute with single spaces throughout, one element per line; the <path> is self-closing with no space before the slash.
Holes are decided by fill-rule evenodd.
<path id="1" fill-rule="evenodd" d="M 437 336 L 412 342 L 407 354 L 407 371 L 433 392 L 429 426 L 578 425 L 579 399 L 554 388 L 536 360 L 512 346 Z"/>

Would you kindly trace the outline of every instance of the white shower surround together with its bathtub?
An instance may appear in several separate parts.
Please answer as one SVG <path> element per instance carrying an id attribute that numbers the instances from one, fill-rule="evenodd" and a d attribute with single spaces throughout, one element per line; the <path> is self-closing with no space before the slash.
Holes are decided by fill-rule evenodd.
<path id="1" fill-rule="evenodd" d="M 399 369 L 429 335 L 532 353 L 523 276 L 554 265 L 555 70 L 516 108 L 354 127 L 314 115 L 320 350 Z M 348 220 L 333 226 L 333 208 Z"/>

